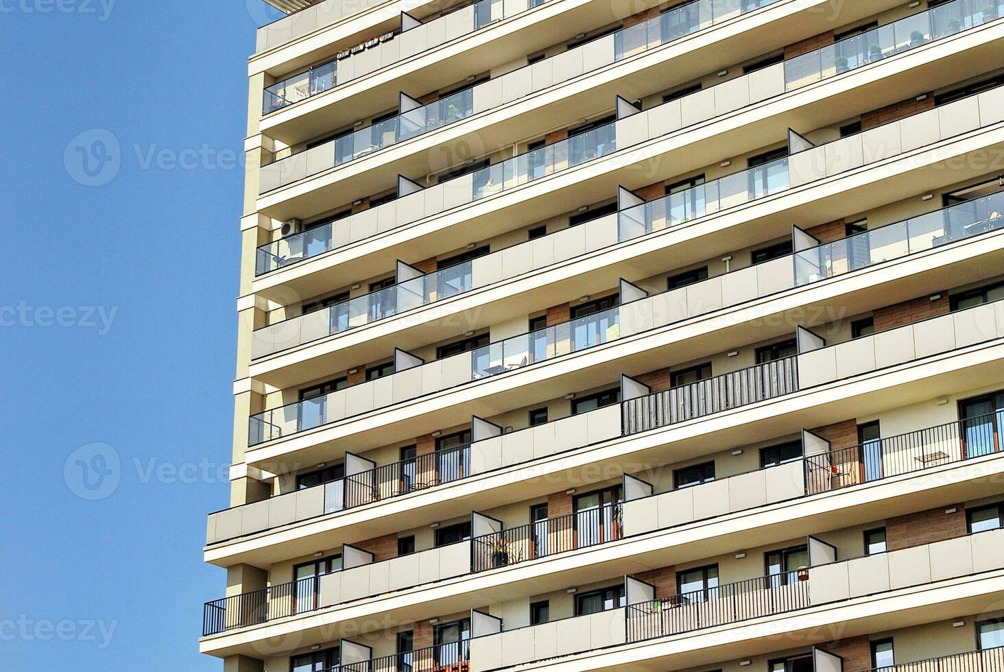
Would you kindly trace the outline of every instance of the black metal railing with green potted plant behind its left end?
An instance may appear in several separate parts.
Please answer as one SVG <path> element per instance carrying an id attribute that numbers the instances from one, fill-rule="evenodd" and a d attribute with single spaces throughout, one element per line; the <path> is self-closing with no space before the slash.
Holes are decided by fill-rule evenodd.
<path id="1" fill-rule="evenodd" d="M 518 565 L 621 537 L 620 504 L 603 504 L 471 539 L 471 572 Z"/>

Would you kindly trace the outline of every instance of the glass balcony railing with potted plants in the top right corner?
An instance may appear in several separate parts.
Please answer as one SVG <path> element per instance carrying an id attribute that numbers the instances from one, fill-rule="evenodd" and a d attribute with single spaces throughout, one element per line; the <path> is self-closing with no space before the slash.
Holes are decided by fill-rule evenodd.
<path id="1" fill-rule="evenodd" d="M 1001 0 L 953 0 L 784 61 L 787 90 L 852 70 L 993 21 Z"/>

